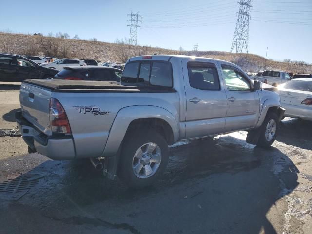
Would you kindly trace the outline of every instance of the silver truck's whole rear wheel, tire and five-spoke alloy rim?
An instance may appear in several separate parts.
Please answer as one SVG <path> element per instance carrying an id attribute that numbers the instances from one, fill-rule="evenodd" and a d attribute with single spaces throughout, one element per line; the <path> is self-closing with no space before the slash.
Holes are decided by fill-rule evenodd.
<path id="1" fill-rule="evenodd" d="M 152 185 L 168 162 L 167 141 L 156 130 L 129 134 L 121 150 L 120 178 L 133 188 Z"/>

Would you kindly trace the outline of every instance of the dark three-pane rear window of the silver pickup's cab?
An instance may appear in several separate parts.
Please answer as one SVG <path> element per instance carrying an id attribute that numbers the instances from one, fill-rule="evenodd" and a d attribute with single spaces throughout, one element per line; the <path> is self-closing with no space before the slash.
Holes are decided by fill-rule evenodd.
<path id="1" fill-rule="evenodd" d="M 121 83 L 173 87 L 172 66 L 168 61 L 128 62 Z"/>

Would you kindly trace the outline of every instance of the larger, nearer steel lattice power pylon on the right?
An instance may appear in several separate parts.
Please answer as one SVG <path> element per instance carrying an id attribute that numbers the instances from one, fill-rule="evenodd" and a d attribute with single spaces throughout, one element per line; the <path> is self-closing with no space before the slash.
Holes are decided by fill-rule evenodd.
<path id="1" fill-rule="evenodd" d="M 250 2 L 251 0 L 240 0 L 238 2 L 239 12 L 231 46 L 231 52 L 236 50 L 236 54 L 241 54 L 243 51 L 248 53 L 249 10 L 252 7 Z"/>

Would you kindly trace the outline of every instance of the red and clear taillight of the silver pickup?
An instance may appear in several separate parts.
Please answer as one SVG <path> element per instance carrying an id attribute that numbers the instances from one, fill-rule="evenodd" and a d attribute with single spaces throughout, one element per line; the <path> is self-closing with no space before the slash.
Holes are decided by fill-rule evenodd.
<path id="1" fill-rule="evenodd" d="M 50 125 L 54 133 L 71 133 L 67 115 L 64 108 L 55 98 L 50 100 Z"/>

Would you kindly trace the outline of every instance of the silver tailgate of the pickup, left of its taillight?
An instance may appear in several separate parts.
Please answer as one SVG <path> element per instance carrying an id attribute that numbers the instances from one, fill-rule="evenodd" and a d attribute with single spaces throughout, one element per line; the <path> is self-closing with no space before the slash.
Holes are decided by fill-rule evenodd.
<path id="1" fill-rule="evenodd" d="M 22 115 L 46 135 L 52 135 L 49 120 L 49 105 L 52 92 L 28 83 L 20 86 Z"/>

